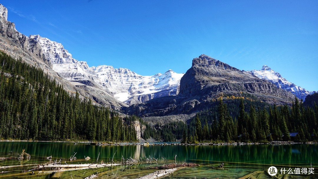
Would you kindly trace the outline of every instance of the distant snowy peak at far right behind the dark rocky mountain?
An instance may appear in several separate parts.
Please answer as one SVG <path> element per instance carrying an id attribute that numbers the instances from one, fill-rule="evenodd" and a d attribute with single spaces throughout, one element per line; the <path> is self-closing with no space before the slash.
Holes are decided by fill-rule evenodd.
<path id="1" fill-rule="evenodd" d="M 251 70 L 249 71 L 249 73 L 259 77 L 260 79 L 265 79 L 269 82 L 274 83 L 278 88 L 292 92 L 299 99 L 305 100 L 307 95 L 315 92 L 307 91 L 306 89 L 303 89 L 300 86 L 297 86 L 294 83 L 287 81 L 279 73 L 275 72 L 267 65 L 264 65 L 260 70 Z"/>

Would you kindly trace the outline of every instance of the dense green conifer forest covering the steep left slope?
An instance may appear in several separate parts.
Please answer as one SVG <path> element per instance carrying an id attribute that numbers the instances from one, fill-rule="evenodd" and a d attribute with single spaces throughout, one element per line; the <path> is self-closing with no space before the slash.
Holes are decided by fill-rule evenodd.
<path id="1" fill-rule="evenodd" d="M 136 117 L 80 100 L 39 67 L 0 53 L 0 139 L 136 141 Z"/>

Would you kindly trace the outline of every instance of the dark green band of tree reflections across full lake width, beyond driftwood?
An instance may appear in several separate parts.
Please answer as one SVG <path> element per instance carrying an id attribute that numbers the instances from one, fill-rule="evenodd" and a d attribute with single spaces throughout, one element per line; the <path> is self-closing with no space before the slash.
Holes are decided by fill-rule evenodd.
<path id="1" fill-rule="evenodd" d="M 0 142 L 0 154 L 7 155 L 8 151 L 16 154 L 25 149 L 34 156 L 50 156 L 53 158 L 69 158 L 77 152 L 78 159 L 84 155 L 96 160 L 100 152 L 100 160 L 121 161 L 124 158 L 154 157 L 166 158 L 180 162 L 212 163 L 211 161 L 239 162 L 239 163 L 263 163 L 263 164 L 298 164 L 304 166 L 318 163 L 318 145 L 294 144 L 294 145 L 242 145 L 242 146 L 91 146 L 86 144 L 74 145 L 73 143 L 53 142 Z M 1 157 L 1 156 L 0 156 Z M 305 165 L 306 164 L 306 165 Z"/>

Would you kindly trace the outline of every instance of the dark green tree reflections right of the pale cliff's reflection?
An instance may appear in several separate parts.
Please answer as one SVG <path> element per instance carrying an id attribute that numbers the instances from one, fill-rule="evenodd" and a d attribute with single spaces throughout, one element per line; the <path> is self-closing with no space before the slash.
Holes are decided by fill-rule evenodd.
<path id="1" fill-rule="evenodd" d="M 317 163 L 317 145 L 238 145 L 238 146 L 142 146 L 144 156 L 178 161 L 208 163 L 228 161 L 262 164 Z M 315 161 L 313 161 L 315 160 Z"/>

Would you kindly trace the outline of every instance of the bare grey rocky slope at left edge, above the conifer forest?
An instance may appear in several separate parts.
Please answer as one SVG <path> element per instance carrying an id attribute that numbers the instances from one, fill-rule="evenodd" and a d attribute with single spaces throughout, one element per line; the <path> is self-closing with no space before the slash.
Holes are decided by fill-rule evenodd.
<path id="1" fill-rule="evenodd" d="M 112 97 L 107 91 L 99 85 L 88 86 L 82 83 L 72 84 L 65 80 L 62 75 L 55 72 L 50 58 L 42 50 L 38 37 L 27 37 L 15 29 L 15 24 L 7 21 L 7 9 L 0 4 L 0 49 L 14 58 L 20 58 L 34 66 L 37 65 L 48 74 L 49 78 L 55 79 L 57 83 L 62 84 L 70 94 L 79 92 L 81 98 L 91 98 L 99 104 L 109 106 L 111 109 L 120 110 L 127 106 Z M 63 56 L 63 55 L 62 55 Z M 65 57 L 65 55 L 64 55 Z M 87 66 L 88 67 L 88 66 Z M 85 81 L 86 79 L 82 79 Z"/>

